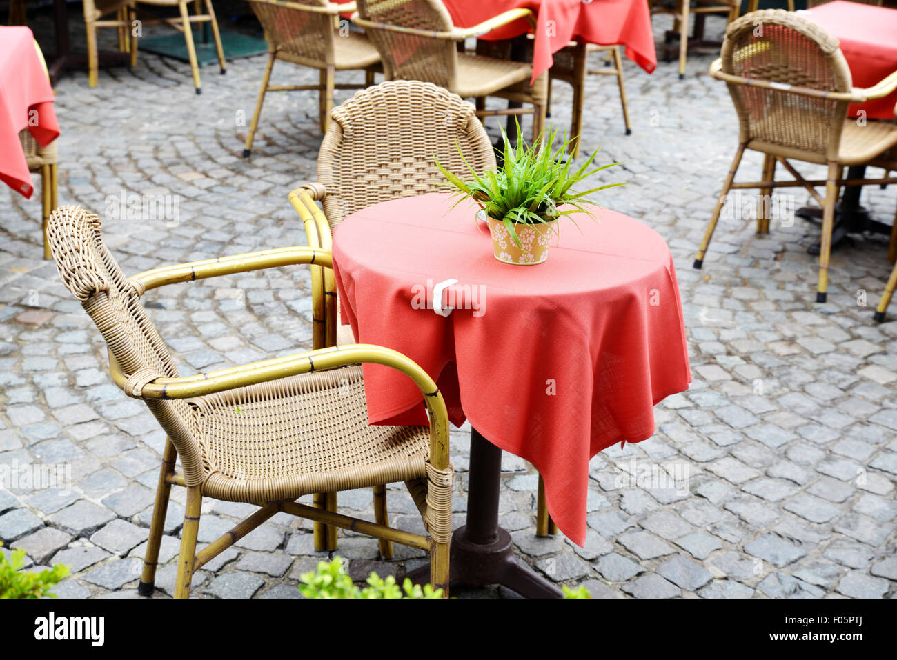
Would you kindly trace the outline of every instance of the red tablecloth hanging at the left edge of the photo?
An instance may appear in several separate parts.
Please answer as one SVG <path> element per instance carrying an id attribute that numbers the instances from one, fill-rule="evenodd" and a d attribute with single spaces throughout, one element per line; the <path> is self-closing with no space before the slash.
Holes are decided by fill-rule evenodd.
<path id="1" fill-rule="evenodd" d="M 34 186 L 19 133 L 28 128 L 44 147 L 56 140 L 53 100 L 31 30 L 0 26 L 0 180 L 26 197 Z"/>

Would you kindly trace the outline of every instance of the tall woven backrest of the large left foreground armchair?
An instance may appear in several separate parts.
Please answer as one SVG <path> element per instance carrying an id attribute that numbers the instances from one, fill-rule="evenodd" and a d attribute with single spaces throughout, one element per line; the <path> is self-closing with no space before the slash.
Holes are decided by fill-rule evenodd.
<path id="1" fill-rule="evenodd" d="M 154 378 L 177 378 L 178 369 L 146 315 L 141 292 L 103 243 L 100 226 L 96 214 L 80 206 L 62 206 L 50 216 L 47 239 L 65 288 L 81 301 L 99 328 L 127 378 L 125 392 L 133 396 Z M 184 400 L 146 403 L 178 449 L 185 482 L 201 482 L 202 452 L 190 404 Z"/>

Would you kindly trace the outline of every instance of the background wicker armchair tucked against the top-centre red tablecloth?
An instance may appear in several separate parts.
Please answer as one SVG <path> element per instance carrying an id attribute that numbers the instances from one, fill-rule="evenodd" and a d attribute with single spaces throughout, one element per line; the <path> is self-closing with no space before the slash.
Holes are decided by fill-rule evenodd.
<path id="1" fill-rule="evenodd" d="M 542 133 L 548 100 L 547 75 L 530 85 L 532 65 L 459 53 L 458 43 L 501 25 L 527 19 L 533 13 L 512 9 L 476 25 L 458 29 L 440 0 L 358 0 L 358 18 L 380 52 L 387 80 L 435 83 L 461 98 L 497 96 L 528 103 L 532 109 L 477 109 L 478 117 L 533 115 L 533 139 Z"/>

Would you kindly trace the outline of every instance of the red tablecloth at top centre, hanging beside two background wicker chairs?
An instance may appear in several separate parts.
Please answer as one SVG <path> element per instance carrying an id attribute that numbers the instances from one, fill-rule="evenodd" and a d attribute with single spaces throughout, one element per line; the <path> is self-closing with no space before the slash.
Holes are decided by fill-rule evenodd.
<path id="1" fill-rule="evenodd" d="M 338 0 L 350 2 L 351 0 Z M 536 13 L 533 44 L 533 80 L 547 71 L 552 54 L 579 39 L 598 46 L 620 45 L 626 56 L 649 74 L 658 65 L 654 32 L 645 0 L 442 0 L 458 28 L 472 28 L 511 9 Z M 510 39 L 529 30 L 521 19 L 479 39 Z"/>

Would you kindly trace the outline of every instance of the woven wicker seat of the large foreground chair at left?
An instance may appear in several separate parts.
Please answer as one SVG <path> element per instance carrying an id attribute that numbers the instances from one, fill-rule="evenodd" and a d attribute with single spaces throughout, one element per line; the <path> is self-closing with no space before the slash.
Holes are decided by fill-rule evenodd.
<path id="1" fill-rule="evenodd" d="M 368 423 L 361 367 L 242 387 L 195 402 L 203 492 L 295 499 L 426 477 L 429 430 Z"/>

